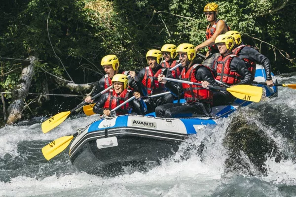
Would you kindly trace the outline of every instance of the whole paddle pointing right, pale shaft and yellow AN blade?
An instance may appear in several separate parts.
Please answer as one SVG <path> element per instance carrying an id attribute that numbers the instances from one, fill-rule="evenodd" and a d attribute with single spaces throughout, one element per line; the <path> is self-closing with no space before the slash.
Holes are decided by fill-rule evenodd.
<path id="1" fill-rule="evenodd" d="M 162 77 L 162 79 L 165 79 L 168 81 L 175 81 L 179 83 L 191 84 L 191 85 L 199 85 L 199 86 L 202 85 L 200 83 L 194 83 L 191 81 L 183 81 L 183 80 L 172 79 L 167 77 Z M 249 85 L 236 85 L 230 88 L 224 88 L 224 87 L 212 86 L 212 85 L 209 85 L 208 87 L 215 90 L 228 91 L 231 95 L 233 95 L 238 99 L 248 100 L 252 102 L 259 102 L 263 93 L 262 87 L 249 86 Z"/>

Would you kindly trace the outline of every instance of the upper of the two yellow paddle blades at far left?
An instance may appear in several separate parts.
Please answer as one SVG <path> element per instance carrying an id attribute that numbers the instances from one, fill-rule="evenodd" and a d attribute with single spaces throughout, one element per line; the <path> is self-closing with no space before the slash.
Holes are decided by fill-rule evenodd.
<path id="1" fill-rule="evenodd" d="M 44 121 L 41 124 L 42 131 L 44 133 L 47 133 L 48 131 L 52 130 L 53 128 L 61 124 L 69 116 L 69 114 L 71 114 L 71 111 L 64 111 Z"/>

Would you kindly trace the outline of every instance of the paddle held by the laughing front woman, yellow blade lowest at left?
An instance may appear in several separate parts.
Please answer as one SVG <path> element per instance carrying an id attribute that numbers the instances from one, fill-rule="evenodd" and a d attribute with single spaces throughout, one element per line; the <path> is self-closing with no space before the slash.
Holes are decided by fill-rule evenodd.
<path id="1" fill-rule="evenodd" d="M 112 109 L 110 111 L 111 116 L 116 116 L 116 110 L 119 109 L 121 106 L 123 106 L 124 104 L 126 104 L 127 102 L 135 99 L 136 97 L 133 96 L 129 99 L 127 99 L 126 101 L 124 101 L 123 103 L 121 103 L 120 105 L 118 105 L 117 107 L 115 107 L 114 109 Z M 44 146 L 42 148 L 42 154 L 45 157 L 46 160 L 50 160 L 51 158 L 55 157 L 56 155 L 58 155 L 59 153 L 61 153 L 63 150 L 65 150 L 71 140 L 78 135 L 78 132 L 76 132 L 74 135 L 71 136 L 63 136 L 60 137 L 52 142 L 50 142 L 49 144 L 47 144 L 46 146 Z"/>

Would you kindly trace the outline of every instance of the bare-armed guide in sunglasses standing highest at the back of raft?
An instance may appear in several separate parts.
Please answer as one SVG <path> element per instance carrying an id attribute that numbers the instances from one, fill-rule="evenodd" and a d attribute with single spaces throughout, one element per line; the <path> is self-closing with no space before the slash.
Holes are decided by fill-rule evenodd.
<path id="1" fill-rule="evenodd" d="M 213 62 L 219 55 L 218 48 L 215 46 L 215 39 L 218 35 L 224 34 L 230 31 L 230 28 L 225 21 L 217 18 L 218 15 L 218 4 L 212 2 L 206 4 L 204 7 L 204 14 L 207 21 L 210 23 L 207 27 L 206 38 L 207 40 L 195 47 L 196 52 L 204 47 L 208 47 L 209 51 L 206 54 L 206 59 L 203 65 L 212 67 Z"/>

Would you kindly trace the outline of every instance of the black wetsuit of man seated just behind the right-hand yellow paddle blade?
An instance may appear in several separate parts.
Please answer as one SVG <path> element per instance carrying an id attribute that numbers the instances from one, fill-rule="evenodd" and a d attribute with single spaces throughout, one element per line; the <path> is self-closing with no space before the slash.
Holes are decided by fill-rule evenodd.
<path id="1" fill-rule="evenodd" d="M 225 54 L 224 56 L 227 56 L 228 54 L 229 53 Z M 231 71 L 235 71 L 241 75 L 240 82 L 235 85 L 251 84 L 253 82 L 253 76 L 251 72 L 248 70 L 246 63 L 243 59 L 240 59 L 239 57 L 234 57 L 230 62 L 230 69 Z M 228 85 L 231 86 L 233 84 Z M 213 106 L 228 105 L 235 99 L 236 98 L 227 91 L 216 91 L 214 92 Z"/>

